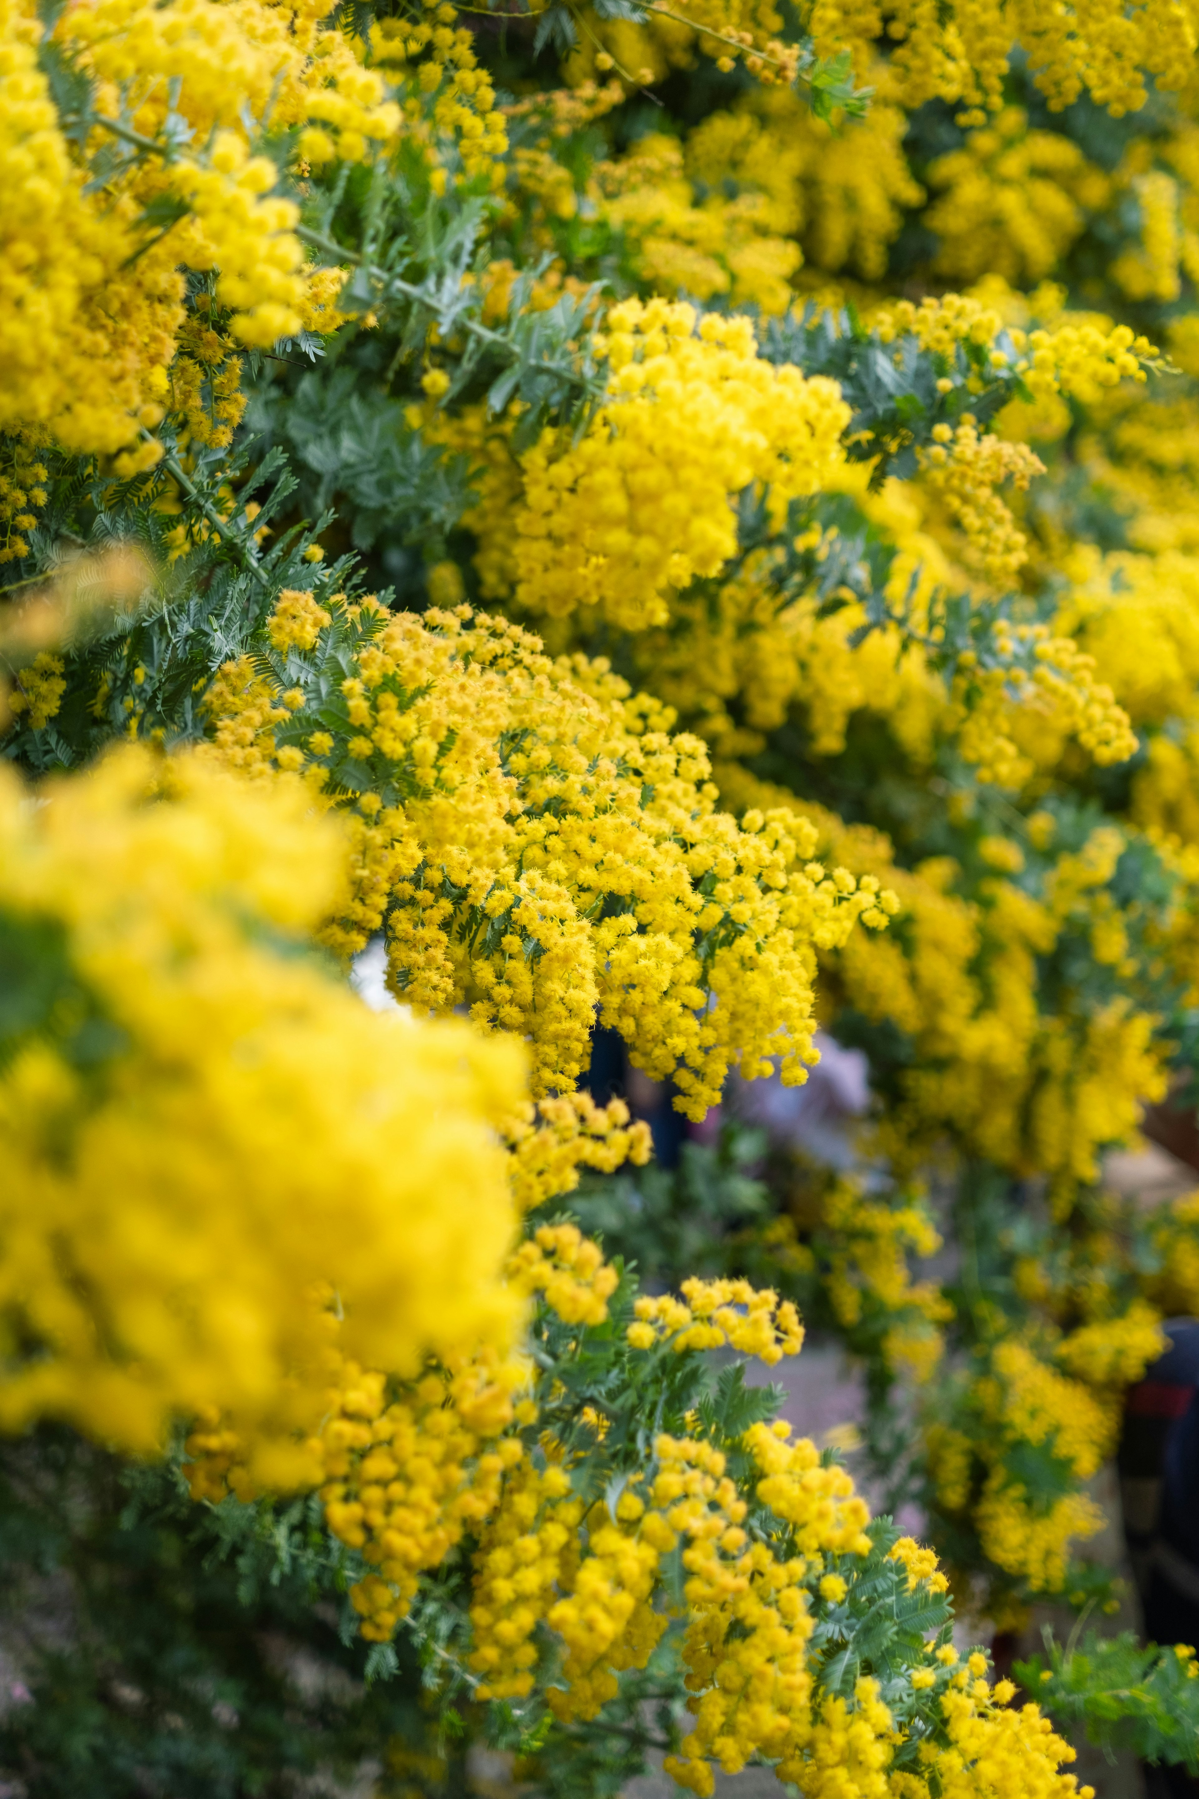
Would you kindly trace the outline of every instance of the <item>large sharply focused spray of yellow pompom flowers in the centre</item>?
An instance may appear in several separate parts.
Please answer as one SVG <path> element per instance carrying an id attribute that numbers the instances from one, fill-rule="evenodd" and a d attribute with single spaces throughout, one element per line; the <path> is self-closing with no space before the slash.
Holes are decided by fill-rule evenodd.
<path id="1" fill-rule="evenodd" d="M 518 626 L 288 590 L 270 640 L 275 675 L 228 664 L 209 693 L 216 756 L 343 799 L 333 948 L 385 930 L 394 991 L 525 1034 L 537 1094 L 575 1085 L 597 1007 L 690 1117 L 732 1065 L 805 1079 L 814 946 L 886 923 L 877 882 L 809 862 L 782 813 L 717 813 L 699 739 Z"/>

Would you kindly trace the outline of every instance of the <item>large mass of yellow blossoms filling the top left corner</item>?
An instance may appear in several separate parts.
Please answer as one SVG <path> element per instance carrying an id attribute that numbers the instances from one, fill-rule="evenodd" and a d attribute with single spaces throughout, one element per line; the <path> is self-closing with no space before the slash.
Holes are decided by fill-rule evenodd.
<path id="1" fill-rule="evenodd" d="M 325 13 L 322 0 L 93 0 L 61 13 L 56 45 L 95 83 L 97 124 L 79 146 L 36 63 L 36 9 L 5 0 L 0 354 L 9 380 L 0 428 L 41 425 L 70 450 L 120 452 L 119 475 L 153 466 L 153 444 L 131 448 L 138 432 L 156 428 L 169 398 L 194 421 L 205 383 L 185 345 L 189 363 L 167 392 L 185 320 L 183 266 L 214 270 L 216 299 L 243 344 L 270 347 L 338 324 L 342 277 L 306 273 L 298 207 L 275 192 L 277 164 L 252 153 L 268 126 L 300 128 L 304 173 L 334 158 L 370 160 L 401 130 L 433 162 L 460 153 L 467 173 L 505 149 L 489 77 L 471 32 L 451 29 L 451 5 L 428 22 L 381 22 L 370 45 L 325 29 Z M 410 94 L 403 104 L 385 72 Z M 158 149 L 167 128 L 171 155 Z M 124 162 L 92 182 L 88 158 L 99 151 Z M 444 167 L 435 173 L 444 182 Z M 185 218 L 151 234 L 146 219 L 173 200 Z M 237 423 L 234 369 L 225 363 L 209 398 L 218 437 Z"/>

